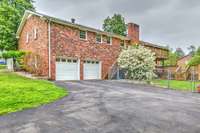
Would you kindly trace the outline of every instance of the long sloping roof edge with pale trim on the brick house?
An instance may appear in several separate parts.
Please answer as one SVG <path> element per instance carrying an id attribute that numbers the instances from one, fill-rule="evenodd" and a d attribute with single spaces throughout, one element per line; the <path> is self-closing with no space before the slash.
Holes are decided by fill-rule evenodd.
<path id="1" fill-rule="evenodd" d="M 29 11 L 29 10 L 26 10 L 25 13 L 24 13 L 24 16 L 21 20 L 21 23 L 20 23 L 19 28 L 18 28 L 17 33 L 16 33 L 17 38 L 19 38 L 20 33 L 23 29 L 23 26 L 26 23 L 26 20 L 31 15 L 35 15 L 35 16 L 41 17 L 43 19 L 46 19 L 48 21 L 55 22 L 55 23 L 62 24 L 62 25 L 67 25 L 69 27 L 74 27 L 74 28 L 77 28 L 77 29 L 80 29 L 80 30 L 87 30 L 87 31 L 98 33 L 98 34 L 103 34 L 103 35 L 119 38 L 119 39 L 122 39 L 122 40 L 131 40 L 127 36 L 121 36 L 121 35 L 118 35 L 118 34 L 113 34 L 113 33 L 110 33 L 110 32 L 105 32 L 105 31 L 99 30 L 99 29 L 83 26 L 83 25 L 80 25 L 80 24 L 77 24 L 77 23 L 71 23 L 71 22 L 66 21 L 66 20 L 62 20 L 62 19 L 59 19 L 59 18 L 56 18 L 56 17 L 48 16 L 48 15 L 45 15 L 45 14 L 42 14 L 42 13 L 33 12 L 33 11 Z M 168 48 L 166 48 L 164 46 L 159 46 L 159 45 L 144 42 L 144 41 L 140 41 L 139 44 L 144 45 L 144 46 L 151 46 L 151 47 L 156 47 L 156 48 L 160 48 L 160 49 L 164 49 L 164 50 L 169 50 Z"/>

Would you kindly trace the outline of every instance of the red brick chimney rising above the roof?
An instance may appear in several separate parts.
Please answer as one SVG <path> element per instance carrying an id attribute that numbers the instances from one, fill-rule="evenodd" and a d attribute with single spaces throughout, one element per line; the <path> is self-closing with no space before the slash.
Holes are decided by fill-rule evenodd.
<path id="1" fill-rule="evenodd" d="M 134 23 L 128 23 L 128 35 L 131 43 L 138 44 L 140 41 L 140 26 Z"/>

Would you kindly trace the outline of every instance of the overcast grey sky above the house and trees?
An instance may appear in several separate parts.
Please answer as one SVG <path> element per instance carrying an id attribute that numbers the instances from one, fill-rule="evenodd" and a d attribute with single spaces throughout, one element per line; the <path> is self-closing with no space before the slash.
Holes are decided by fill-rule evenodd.
<path id="1" fill-rule="evenodd" d="M 122 14 L 126 23 L 140 25 L 140 40 L 186 53 L 200 46 L 199 0 L 35 0 L 36 11 L 102 29 L 103 20 Z"/>

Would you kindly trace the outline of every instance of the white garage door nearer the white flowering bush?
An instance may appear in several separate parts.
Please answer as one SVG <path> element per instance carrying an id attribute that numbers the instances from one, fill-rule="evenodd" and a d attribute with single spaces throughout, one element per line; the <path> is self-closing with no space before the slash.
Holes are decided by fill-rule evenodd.
<path id="1" fill-rule="evenodd" d="M 84 80 L 101 79 L 101 65 L 99 61 L 84 61 Z"/>

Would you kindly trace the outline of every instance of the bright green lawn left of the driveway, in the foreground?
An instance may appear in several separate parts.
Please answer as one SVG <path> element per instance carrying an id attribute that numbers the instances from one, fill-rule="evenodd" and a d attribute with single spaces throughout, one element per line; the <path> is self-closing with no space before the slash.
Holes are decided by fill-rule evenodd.
<path id="1" fill-rule="evenodd" d="M 0 72 L 0 114 L 53 102 L 66 96 L 65 89 L 45 80 L 32 80 Z"/>

